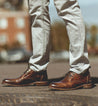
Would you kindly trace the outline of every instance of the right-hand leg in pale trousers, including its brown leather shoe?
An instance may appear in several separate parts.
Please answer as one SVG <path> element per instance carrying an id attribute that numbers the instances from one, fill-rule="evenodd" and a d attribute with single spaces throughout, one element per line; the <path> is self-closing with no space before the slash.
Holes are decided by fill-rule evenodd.
<path id="1" fill-rule="evenodd" d="M 70 40 L 70 72 L 59 82 L 50 84 L 51 89 L 72 90 L 91 88 L 85 26 L 77 0 L 54 0 L 58 15 L 65 21 Z"/>

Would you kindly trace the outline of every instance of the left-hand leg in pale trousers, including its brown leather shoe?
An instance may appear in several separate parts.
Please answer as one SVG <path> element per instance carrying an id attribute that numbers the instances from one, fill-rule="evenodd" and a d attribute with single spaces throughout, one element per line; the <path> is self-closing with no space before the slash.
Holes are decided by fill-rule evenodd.
<path id="1" fill-rule="evenodd" d="M 16 79 L 4 79 L 2 84 L 11 86 L 47 85 L 47 65 L 49 63 L 50 19 L 48 0 L 29 0 L 29 13 L 32 20 L 33 56 L 29 69 Z"/>

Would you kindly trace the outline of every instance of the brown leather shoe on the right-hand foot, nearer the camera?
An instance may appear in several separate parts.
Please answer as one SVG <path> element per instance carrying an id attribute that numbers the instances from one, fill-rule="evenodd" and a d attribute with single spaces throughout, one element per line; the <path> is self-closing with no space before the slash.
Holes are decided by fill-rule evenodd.
<path id="1" fill-rule="evenodd" d="M 86 71 L 82 74 L 68 72 L 65 78 L 59 82 L 54 82 L 49 85 L 52 90 L 74 90 L 78 88 L 92 88 L 90 73 Z"/>

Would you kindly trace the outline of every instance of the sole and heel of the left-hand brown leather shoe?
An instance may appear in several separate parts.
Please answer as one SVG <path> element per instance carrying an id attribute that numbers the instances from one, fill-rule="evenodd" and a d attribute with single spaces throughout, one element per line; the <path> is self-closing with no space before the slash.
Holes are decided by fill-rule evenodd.
<path id="1" fill-rule="evenodd" d="M 9 84 L 9 83 L 3 83 L 4 86 L 13 86 L 13 87 L 22 87 L 22 86 L 47 86 L 47 81 L 37 81 L 29 84 L 22 84 L 22 85 L 16 85 L 16 84 Z"/>

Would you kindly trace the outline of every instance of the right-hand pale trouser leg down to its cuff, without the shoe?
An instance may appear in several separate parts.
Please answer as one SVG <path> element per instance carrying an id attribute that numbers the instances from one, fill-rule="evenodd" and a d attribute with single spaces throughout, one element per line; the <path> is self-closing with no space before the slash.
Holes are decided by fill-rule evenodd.
<path id="1" fill-rule="evenodd" d="M 65 21 L 70 40 L 70 71 L 77 74 L 90 68 L 85 25 L 77 0 L 55 0 L 58 15 Z"/>

